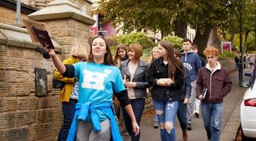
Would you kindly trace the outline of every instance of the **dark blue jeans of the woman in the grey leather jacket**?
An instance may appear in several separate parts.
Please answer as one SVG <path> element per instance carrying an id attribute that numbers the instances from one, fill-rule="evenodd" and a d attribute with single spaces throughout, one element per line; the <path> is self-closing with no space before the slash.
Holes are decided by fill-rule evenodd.
<path id="1" fill-rule="evenodd" d="M 140 125 L 140 119 L 143 115 L 144 105 L 145 105 L 145 99 L 130 99 L 131 107 L 134 111 L 134 115 L 137 121 L 137 124 Z M 128 131 L 128 133 L 131 136 L 131 141 L 139 141 L 140 140 L 140 134 L 137 136 L 134 136 L 133 127 L 131 123 L 131 118 L 129 117 L 128 113 L 125 111 L 125 108 L 122 107 L 122 115 L 124 117 L 125 121 L 125 127 Z"/>

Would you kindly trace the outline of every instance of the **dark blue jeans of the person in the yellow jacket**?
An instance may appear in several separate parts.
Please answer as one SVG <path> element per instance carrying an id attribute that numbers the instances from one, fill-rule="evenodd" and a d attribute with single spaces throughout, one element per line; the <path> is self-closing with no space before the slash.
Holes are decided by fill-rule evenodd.
<path id="1" fill-rule="evenodd" d="M 60 128 L 58 141 L 66 141 L 69 135 L 69 128 L 72 125 L 73 117 L 75 114 L 75 105 L 78 102 L 76 99 L 69 99 L 69 102 L 62 102 L 62 112 L 63 112 L 63 125 Z"/>

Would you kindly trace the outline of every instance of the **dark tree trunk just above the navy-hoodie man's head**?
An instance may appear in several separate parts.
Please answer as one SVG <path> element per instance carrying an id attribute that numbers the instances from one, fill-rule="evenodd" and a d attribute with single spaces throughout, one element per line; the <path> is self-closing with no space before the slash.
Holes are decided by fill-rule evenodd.
<path id="1" fill-rule="evenodd" d="M 183 19 L 177 19 L 175 21 L 175 36 L 179 36 L 183 39 L 187 38 L 186 27 L 186 22 Z"/>

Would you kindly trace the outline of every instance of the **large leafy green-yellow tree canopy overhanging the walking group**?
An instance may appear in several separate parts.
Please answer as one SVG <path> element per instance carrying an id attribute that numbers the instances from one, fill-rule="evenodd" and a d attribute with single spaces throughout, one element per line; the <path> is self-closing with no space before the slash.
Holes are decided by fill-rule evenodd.
<path id="1" fill-rule="evenodd" d="M 255 0 L 243 0 L 245 8 Z M 196 29 L 193 41 L 198 45 L 199 53 L 205 49 L 211 31 L 217 27 L 225 28 L 234 18 L 236 0 L 99 0 L 97 13 L 104 13 L 104 22 L 111 21 L 115 27 L 121 26 L 124 32 L 160 31 L 163 36 L 175 31 L 175 35 L 184 38 L 186 27 Z M 233 26 L 233 25 L 232 25 Z M 214 33 L 214 32 L 213 32 Z"/>

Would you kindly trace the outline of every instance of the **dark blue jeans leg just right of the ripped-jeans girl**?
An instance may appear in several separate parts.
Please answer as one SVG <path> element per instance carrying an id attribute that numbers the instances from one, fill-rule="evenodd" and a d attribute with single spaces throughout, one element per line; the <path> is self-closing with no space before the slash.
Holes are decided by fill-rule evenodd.
<path id="1" fill-rule="evenodd" d="M 178 101 L 177 117 L 182 131 L 187 131 L 187 104 L 184 104 L 184 99 Z"/>

